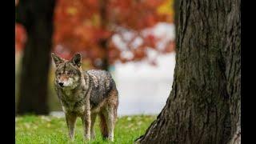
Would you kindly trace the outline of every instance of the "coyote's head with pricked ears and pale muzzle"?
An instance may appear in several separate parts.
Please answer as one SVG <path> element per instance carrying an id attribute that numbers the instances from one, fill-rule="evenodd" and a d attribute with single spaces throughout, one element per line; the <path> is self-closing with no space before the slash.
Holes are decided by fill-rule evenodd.
<path id="1" fill-rule="evenodd" d="M 74 89 L 81 83 L 82 68 L 81 54 L 75 54 L 71 60 L 66 60 L 52 53 L 51 57 L 54 60 L 55 85 L 62 89 Z"/>

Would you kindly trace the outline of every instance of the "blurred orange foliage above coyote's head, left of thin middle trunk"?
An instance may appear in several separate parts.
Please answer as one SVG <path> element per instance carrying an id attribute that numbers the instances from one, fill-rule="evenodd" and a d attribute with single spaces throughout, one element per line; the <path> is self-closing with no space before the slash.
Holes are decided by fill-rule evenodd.
<path id="1" fill-rule="evenodd" d="M 104 50 L 98 45 L 110 33 L 102 30 L 97 0 L 58 0 L 54 14 L 54 50 L 64 57 L 82 52 L 91 60 L 103 58 Z"/>

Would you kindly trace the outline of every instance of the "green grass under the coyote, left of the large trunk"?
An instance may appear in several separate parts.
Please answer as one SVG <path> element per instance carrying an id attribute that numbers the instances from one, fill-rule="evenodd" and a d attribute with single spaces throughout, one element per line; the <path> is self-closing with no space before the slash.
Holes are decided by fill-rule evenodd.
<path id="1" fill-rule="evenodd" d="M 98 126 L 98 118 L 95 123 L 96 138 L 90 142 L 83 140 L 82 121 L 78 118 L 74 136 L 74 142 L 67 137 L 65 118 L 52 116 L 18 116 L 15 118 L 15 143 L 133 143 L 134 139 L 145 133 L 155 116 L 124 116 L 118 118 L 114 130 L 114 142 L 102 140 Z"/>

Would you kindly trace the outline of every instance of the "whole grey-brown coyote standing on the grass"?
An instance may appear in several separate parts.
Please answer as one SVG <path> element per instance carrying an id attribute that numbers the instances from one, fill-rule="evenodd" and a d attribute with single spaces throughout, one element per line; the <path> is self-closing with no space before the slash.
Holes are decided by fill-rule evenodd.
<path id="1" fill-rule="evenodd" d="M 56 68 L 54 85 L 66 114 L 69 136 L 74 139 L 75 122 L 82 118 L 86 139 L 94 138 L 97 115 L 103 138 L 114 140 L 118 90 L 110 73 L 104 70 L 82 71 L 81 54 L 68 61 L 52 54 Z"/>

